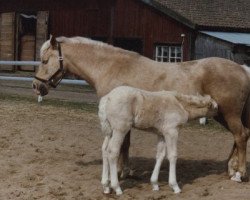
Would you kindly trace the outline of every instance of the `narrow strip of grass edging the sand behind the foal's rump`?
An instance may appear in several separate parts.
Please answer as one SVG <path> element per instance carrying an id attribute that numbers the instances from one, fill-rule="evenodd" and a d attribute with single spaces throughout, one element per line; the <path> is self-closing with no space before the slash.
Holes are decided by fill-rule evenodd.
<path id="1" fill-rule="evenodd" d="M 5 93 L 0 93 L 0 100 L 38 104 L 37 98 L 21 96 L 21 95 L 11 95 Z M 98 111 L 97 103 L 84 103 L 84 102 L 79 103 L 79 102 L 62 101 L 58 99 L 46 99 L 45 101 L 42 101 L 40 104 L 42 106 L 50 105 L 54 107 L 66 107 L 69 109 L 76 109 L 93 113 L 97 113 Z"/>

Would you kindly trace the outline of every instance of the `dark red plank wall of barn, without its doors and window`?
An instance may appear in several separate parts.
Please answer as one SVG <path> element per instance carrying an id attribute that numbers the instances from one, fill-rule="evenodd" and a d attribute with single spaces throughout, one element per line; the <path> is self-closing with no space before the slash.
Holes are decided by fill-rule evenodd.
<path id="1" fill-rule="evenodd" d="M 179 45 L 182 42 L 180 35 L 184 33 L 183 57 L 190 59 L 192 31 L 138 0 L 0 0 L 0 12 L 8 10 L 48 11 L 48 33 L 55 36 L 79 35 L 110 43 L 119 38 L 132 39 L 132 42 L 139 39 L 142 41 L 141 53 L 149 58 L 154 58 L 156 44 Z M 37 26 L 37 30 L 41 31 L 41 27 L 44 28 L 44 24 Z M 37 38 L 44 34 L 38 34 Z M 42 40 L 36 42 L 36 51 L 41 43 Z M 36 53 L 36 58 L 38 56 Z"/>

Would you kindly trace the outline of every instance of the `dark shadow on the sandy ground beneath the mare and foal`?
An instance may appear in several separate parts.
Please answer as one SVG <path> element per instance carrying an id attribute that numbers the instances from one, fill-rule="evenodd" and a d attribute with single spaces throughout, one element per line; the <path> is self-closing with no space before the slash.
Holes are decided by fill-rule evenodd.
<path id="1" fill-rule="evenodd" d="M 77 165 L 91 166 L 102 165 L 102 160 L 97 159 L 90 162 L 77 162 Z M 130 167 L 132 173 L 120 181 L 122 188 L 140 187 L 144 183 L 150 183 L 150 177 L 155 165 L 154 158 L 131 157 Z M 163 161 L 159 174 L 159 183 L 168 181 L 169 163 L 167 159 Z M 250 163 L 247 163 L 247 173 L 250 174 Z M 187 160 L 179 158 L 177 161 L 177 181 L 180 187 L 186 184 L 192 184 L 196 179 L 209 175 L 222 175 L 225 179 L 227 176 L 227 160 Z"/>

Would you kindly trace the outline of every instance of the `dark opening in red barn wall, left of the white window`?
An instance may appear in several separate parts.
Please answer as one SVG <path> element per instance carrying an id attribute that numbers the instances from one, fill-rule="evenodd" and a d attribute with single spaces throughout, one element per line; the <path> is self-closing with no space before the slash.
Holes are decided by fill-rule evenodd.
<path id="1" fill-rule="evenodd" d="M 114 39 L 114 46 L 129 50 L 129 51 L 134 51 L 139 54 L 143 53 L 143 43 L 142 43 L 142 40 L 140 39 L 116 38 Z"/>

